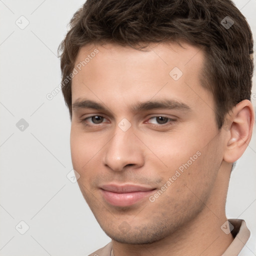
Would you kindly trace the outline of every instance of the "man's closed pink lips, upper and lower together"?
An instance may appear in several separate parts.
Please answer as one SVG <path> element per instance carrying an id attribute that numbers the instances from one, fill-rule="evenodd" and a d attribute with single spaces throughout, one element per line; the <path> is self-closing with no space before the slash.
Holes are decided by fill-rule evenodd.
<path id="1" fill-rule="evenodd" d="M 134 184 L 106 184 L 100 191 L 106 202 L 114 206 L 130 206 L 148 196 L 155 188 Z"/>

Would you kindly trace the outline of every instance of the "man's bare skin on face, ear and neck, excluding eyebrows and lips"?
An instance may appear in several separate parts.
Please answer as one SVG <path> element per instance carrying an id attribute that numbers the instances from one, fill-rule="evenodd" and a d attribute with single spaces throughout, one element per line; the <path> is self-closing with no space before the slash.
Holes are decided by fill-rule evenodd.
<path id="1" fill-rule="evenodd" d="M 72 78 L 72 103 L 89 99 L 107 110 L 73 109 L 71 158 L 80 190 L 112 239 L 114 255 L 221 255 L 233 240 L 220 226 L 226 221 L 232 162 L 251 137 L 250 101 L 238 103 L 218 129 L 213 97 L 200 85 L 200 48 L 185 42 L 182 47 L 151 43 L 148 51 L 88 44 L 80 48 L 75 65 L 95 48 L 99 52 Z M 177 80 L 169 75 L 174 67 L 182 71 Z M 182 102 L 190 110 L 130 109 L 159 99 Z M 102 118 L 87 118 L 93 115 Z M 161 124 L 155 116 L 173 121 Z M 131 124 L 126 131 L 118 126 L 123 118 Z M 190 157 L 192 163 L 166 185 Z M 151 198 L 164 184 L 165 190 L 154 201 L 148 195 L 121 207 L 102 197 L 99 187 L 107 183 L 155 188 Z"/>

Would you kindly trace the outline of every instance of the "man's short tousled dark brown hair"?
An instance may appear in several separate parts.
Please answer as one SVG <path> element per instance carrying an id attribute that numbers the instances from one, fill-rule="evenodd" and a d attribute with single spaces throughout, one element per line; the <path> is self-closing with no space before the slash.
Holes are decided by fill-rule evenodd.
<path id="1" fill-rule="evenodd" d="M 202 46 L 202 86 L 213 94 L 218 128 L 234 105 L 250 100 L 253 39 L 245 17 L 231 0 L 87 0 L 69 26 L 58 52 L 70 118 L 72 81 L 65 79 L 80 47 L 88 43 L 113 42 L 140 50 L 145 47 L 140 42 L 185 40 Z"/>

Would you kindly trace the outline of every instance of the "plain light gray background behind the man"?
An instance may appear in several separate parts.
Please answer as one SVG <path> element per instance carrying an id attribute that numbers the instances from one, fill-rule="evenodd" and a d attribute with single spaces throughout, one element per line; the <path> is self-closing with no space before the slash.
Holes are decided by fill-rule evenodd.
<path id="1" fill-rule="evenodd" d="M 62 93 L 46 98 L 60 83 L 58 44 L 82 3 L 0 0 L 0 256 L 87 255 L 110 241 L 66 177 L 70 121 Z M 255 39 L 256 0 L 235 3 Z M 253 92 L 255 106 L 255 77 Z M 21 118 L 29 124 L 23 131 L 16 127 Z M 251 230 L 248 255 L 256 255 L 255 166 L 254 129 L 231 174 L 226 205 L 227 217 L 245 219 Z M 23 235 L 21 220 L 29 226 Z"/>

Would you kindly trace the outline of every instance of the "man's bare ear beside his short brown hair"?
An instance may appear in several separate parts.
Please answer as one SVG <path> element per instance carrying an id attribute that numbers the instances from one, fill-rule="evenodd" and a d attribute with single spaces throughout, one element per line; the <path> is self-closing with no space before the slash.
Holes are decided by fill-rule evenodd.
<path id="1" fill-rule="evenodd" d="M 251 138 L 254 118 L 253 106 L 247 99 L 240 101 L 228 113 L 222 126 L 226 133 L 224 161 L 234 162 L 243 154 Z"/>

